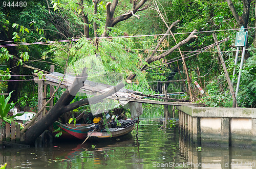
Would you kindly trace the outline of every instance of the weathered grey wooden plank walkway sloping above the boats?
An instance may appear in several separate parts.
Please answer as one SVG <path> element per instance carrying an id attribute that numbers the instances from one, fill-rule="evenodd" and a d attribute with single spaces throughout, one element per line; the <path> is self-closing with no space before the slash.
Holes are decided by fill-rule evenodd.
<path id="1" fill-rule="evenodd" d="M 63 77 L 62 73 L 58 72 L 52 72 L 50 74 L 45 74 L 45 78 L 43 80 L 44 85 L 52 85 L 52 86 L 58 86 L 60 79 Z M 68 89 L 69 87 L 72 86 L 73 80 L 75 79 L 74 76 L 71 75 L 65 75 L 62 83 L 61 83 L 61 88 Z M 36 83 L 39 85 L 39 79 L 38 77 L 34 77 L 34 80 Z M 79 92 L 81 93 L 86 93 L 86 94 L 91 94 L 91 95 L 99 95 L 105 92 L 108 92 L 111 90 L 113 86 L 111 85 L 106 85 L 103 83 L 99 82 L 94 82 L 90 80 L 86 80 L 84 82 L 84 86 L 80 89 Z M 162 105 L 191 105 L 191 106 L 202 106 L 201 104 L 195 104 L 195 103 L 189 103 L 187 100 L 183 99 L 172 99 L 172 98 L 167 98 L 167 97 L 157 97 L 157 96 L 148 96 L 148 97 L 156 97 L 158 99 L 164 99 L 164 100 L 172 100 L 174 102 L 166 102 L 166 101 L 156 101 L 156 100 L 147 100 L 147 99 L 140 99 L 140 96 L 146 96 L 143 95 L 140 92 L 135 92 L 132 90 L 126 90 L 126 89 L 121 89 L 118 92 L 115 93 L 115 95 L 109 96 L 109 99 L 113 100 L 119 100 L 119 102 L 122 102 L 122 105 L 128 103 L 128 102 L 139 102 L 139 103 L 149 103 L 149 104 L 162 104 Z"/>

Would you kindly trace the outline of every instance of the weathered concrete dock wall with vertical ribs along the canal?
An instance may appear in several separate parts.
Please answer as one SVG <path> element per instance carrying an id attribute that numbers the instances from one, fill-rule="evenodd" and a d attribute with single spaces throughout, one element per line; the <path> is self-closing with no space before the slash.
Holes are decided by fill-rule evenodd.
<path id="1" fill-rule="evenodd" d="M 197 146 L 256 146 L 256 108 L 177 106 L 183 139 Z"/>

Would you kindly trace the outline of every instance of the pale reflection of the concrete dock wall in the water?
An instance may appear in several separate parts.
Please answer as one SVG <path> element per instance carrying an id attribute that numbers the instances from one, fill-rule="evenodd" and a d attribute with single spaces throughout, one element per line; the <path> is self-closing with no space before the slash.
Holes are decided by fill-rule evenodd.
<path id="1" fill-rule="evenodd" d="M 256 148 L 196 147 L 182 137 L 179 145 L 188 166 L 193 168 L 256 168 Z"/>

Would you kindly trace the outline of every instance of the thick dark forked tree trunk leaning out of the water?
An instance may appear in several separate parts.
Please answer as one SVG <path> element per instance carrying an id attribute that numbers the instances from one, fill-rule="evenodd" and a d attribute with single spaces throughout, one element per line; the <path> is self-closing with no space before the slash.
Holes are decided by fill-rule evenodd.
<path id="1" fill-rule="evenodd" d="M 33 126 L 31 126 L 25 132 L 25 144 L 32 145 L 35 142 L 35 139 L 43 133 L 47 128 L 49 128 L 59 116 L 63 113 L 68 112 L 70 110 L 76 109 L 79 106 L 88 105 L 88 99 L 81 99 L 77 102 L 71 103 L 70 102 L 74 99 L 76 93 L 83 87 L 84 81 L 87 79 L 87 74 L 82 73 L 81 75 L 77 76 L 73 82 L 73 85 L 70 89 L 65 91 L 56 104 L 48 111 L 48 113 L 42 117 L 38 122 L 36 122 Z M 103 93 L 99 96 L 94 96 L 90 99 L 91 104 L 95 104 L 100 102 L 102 99 L 111 96 L 112 94 L 116 93 L 120 89 L 124 87 L 124 83 L 119 83 L 110 91 Z"/>

